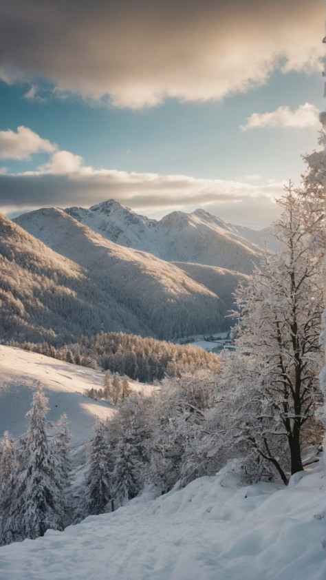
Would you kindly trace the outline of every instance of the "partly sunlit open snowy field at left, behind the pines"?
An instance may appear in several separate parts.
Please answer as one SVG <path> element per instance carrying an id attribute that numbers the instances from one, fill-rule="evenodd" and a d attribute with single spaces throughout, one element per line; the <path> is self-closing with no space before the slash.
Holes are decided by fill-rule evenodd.
<path id="1" fill-rule="evenodd" d="M 91 387 L 102 388 L 104 373 L 0 345 L 0 437 L 6 430 L 14 438 L 25 432 L 25 414 L 30 409 L 33 388 L 38 382 L 49 398 L 47 420 L 54 423 L 63 413 L 67 414 L 73 448 L 91 437 L 96 417 L 106 419 L 115 412 L 115 406 L 85 397 Z M 133 381 L 130 385 L 134 391 L 144 394 L 153 389 L 151 385 Z"/>

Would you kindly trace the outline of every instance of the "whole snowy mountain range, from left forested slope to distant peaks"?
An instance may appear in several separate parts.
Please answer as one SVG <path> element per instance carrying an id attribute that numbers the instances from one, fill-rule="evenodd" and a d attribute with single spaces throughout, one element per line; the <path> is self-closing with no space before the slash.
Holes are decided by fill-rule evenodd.
<path id="1" fill-rule="evenodd" d="M 0 218 L 5 340 L 60 344 L 100 331 L 174 339 L 227 329 L 232 293 L 261 257 L 237 227 L 202 209 L 157 221 L 109 200 L 14 222 Z"/>

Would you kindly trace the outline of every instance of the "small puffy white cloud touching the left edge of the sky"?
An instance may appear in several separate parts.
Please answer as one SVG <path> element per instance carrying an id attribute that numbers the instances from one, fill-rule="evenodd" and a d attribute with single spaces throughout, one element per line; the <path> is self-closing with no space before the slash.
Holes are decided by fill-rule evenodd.
<path id="1" fill-rule="evenodd" d="M 0 159 L 30 159 L 35 153 L 52 153 L 57 149 L 54 143 L 41 138 L 29 127 L 17 127 L 17 133 L 12 130 L 0 131 Z"/>

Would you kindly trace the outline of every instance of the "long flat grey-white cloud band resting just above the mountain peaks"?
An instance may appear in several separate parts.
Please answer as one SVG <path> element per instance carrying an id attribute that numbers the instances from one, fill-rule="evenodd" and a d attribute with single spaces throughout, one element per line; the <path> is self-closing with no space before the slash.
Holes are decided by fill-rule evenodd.
<path id="1" fill-rule="evenodd" d="M 280 196 L 282 185 L 259 187 L 241 182 L 194 179 L 188 176 L 128 174 L 115 170 L 96 172 L 81 167 L 72 174 L 29 172 L 0 174 L 0 211 L 8 215 L 37 207 L 89 207 L 115 198 L 135 211 L 164 212 L 173 209 L 208 211 L 226 220 L 265 225 L 261 216 L 274 217 L 274 196 Z M 254 208 L 254 209 L 253 209 Z M 23 211 L 22 209 L 22 211 Z M 228 217 L 229 216 L 229 217 Z"/>

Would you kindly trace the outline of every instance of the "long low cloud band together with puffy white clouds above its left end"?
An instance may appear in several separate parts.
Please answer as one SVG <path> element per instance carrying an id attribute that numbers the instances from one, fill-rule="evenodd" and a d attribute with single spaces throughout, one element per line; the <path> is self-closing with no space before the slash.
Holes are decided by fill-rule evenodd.
<path id="1" fill-rule="evenodd" d="M 0 171 L 0 211 L 6 214 L 17 215 L 19 208 L 27 211 L 37 207 L 87 207 L 115 198 L 122 205 L 144 213 L 205 207 L 222 219 L 263 227 L 279 211 L 274 197 L 280 197 L 283 192 L 283 183 L 274 181 L 253 185 L 241 180 L 94 169 L 84 165 L 82 157 L 58 150 L 28 127 L 18 127 L 17 133 L 0 132 L 1 143 L 3 154 L 10 154 L 11 158 L 14 155 L 14 158 L 28 158 L 40 150 L 50 154 L 49 161 L 36 171 L 19 174 Z M 250 180 L 259 177 L 247 176 Z"/>

